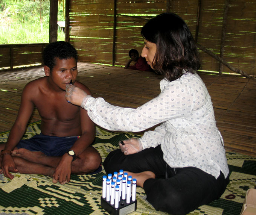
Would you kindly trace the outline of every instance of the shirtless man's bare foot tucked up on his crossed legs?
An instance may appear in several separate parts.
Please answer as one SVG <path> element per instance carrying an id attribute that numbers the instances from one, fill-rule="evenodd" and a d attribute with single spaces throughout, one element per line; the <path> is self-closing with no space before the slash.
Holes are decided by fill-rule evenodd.
<path id="1" fill-rule="evenodd" d="M 22 157 L 23 159 L 28 160 L 30 162 L 40 164 L 42 156 L 46 155 L 41 151 L 30 151 L 27 150 L 26 148 L 17 148 L 12 151 L 12 156 Z"/>

